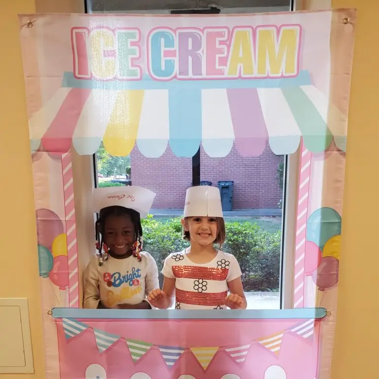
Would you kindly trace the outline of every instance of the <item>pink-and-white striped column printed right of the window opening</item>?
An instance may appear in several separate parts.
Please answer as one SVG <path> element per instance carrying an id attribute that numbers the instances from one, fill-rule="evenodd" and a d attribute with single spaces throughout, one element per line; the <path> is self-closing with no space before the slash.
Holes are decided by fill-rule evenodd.
<path id="1" fill-rule="evenodd" d="M 301 143 L 300 175 L 298 190 L 298 211 L 296 219 L 295 269 L 294 269 L 294 308 L 304 306 L 304 257 L 306 221 L 308 219 L 309 179 L 311 153 Z"/>

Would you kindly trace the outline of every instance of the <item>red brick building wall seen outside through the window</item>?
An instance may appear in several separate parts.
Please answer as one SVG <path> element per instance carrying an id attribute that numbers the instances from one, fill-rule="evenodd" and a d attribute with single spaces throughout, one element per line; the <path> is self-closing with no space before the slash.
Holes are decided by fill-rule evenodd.
<path id="1" fill-rule="evenodd" d="M 186 190 L 192 182 L 191 158 L 179 158 L 168 147 L 159 158 L 146 158 L 138 148 L 130 154 L 132 183 L 157 195 L 155 209 L 183 209 Z M 225 158 L 211 158 L 200 150 L 200 178 L 217 186 L 221 180 L 234 181 L 233 209 L 277 208 L 282 191 L 276 170 L 283 156 L 267 146 L 258 157 L 243 157 L 233 147 Z"/>

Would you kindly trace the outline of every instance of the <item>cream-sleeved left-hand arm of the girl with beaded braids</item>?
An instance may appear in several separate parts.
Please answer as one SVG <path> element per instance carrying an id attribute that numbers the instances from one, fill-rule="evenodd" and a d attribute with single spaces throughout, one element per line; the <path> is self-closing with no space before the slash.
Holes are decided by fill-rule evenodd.
<path id="1" fill-rule="evenodd" d="M 94 257 L 90 260 L 84 272 L 83 307 L 89 309 L 105 308 L 105 306 L 100 301 L 97 257 Z"/>

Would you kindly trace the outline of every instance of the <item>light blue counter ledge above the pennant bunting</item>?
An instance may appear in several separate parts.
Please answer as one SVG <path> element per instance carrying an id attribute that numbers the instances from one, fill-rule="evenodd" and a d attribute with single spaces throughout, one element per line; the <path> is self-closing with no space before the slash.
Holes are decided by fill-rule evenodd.
<path id="1" fill-rule="evenodd" d="M 309 319 L 326 316 L 325 308 L 175 310 L 53 308 L 54 318 L 76 319 Z"/>

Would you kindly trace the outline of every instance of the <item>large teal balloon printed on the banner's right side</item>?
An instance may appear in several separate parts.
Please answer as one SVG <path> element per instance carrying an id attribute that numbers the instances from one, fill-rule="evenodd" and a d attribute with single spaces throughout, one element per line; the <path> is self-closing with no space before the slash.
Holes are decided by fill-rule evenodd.
<path id="1" fill-rule="evenodd" d="M 316 209 L 306 223 L 306 239 L 320 249 L 335 235 L 341 234 L 341 216 L 333 208 Z"/>

